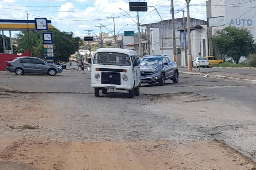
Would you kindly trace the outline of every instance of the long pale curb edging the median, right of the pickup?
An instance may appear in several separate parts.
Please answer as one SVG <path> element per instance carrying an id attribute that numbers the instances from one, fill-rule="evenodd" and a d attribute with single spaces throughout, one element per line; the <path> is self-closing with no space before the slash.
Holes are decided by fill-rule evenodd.
<path id="1" fill-rule="evenodd" d="M 224 76 L 224 75 L 205 74 L 205 73 L 196 73 L 196 72 L 184 72 L 184 71 L 180 71 L 179 73 L 189 74 L 189 75 L 208 76 L 208 77 L 216 78 L 216 79 L 227 79 L 227 80 L 235 80 L 235 81 L 240 81 L 240 82 L 256 84 L 256 80 L 242 79 L 242 78 L 236 78 L 236 77 L 227 77 L 227 76 Z"/>

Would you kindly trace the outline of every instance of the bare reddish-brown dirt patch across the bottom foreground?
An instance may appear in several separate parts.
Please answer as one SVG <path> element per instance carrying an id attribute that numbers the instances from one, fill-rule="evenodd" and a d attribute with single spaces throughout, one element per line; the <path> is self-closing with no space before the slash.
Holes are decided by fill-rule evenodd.
<path id="1" fill-rule="evenodd" d="M 31 138 L 1 146 L 0 160 L 38 169 L 248 170 L 253 167 L 212 141 L 182 147 L 174 146 L 171 141 L 58 142 Z"/>

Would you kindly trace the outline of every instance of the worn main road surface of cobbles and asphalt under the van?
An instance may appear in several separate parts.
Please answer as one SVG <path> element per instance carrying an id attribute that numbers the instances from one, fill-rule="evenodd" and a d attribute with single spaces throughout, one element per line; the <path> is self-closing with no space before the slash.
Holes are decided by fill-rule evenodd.
<path id="1" fill-rule="evenodd" d="M 44 116 L 0 117 L 3 138 L 171 140 L 176 145 L 219 137 L 256 156 L 256 86 L 252 84 L 180 75 L 178 84 L 169 80 L 165 86 L 144 84 L 140 96 L 128 98 L 123 91 L 94 97 L 88 71 L 63 71 L 55 77 L 0 72 L 0 80 L 0 92 L 11 95 L 1 98 L 0 110 L 15 113 L 18 108 L 40 106 L 37 113 L 42 109 L 54 113 L 48 121 Z M 11 131 L 6 125 L 13 122 L 36 122 L 44 128 Z"/>

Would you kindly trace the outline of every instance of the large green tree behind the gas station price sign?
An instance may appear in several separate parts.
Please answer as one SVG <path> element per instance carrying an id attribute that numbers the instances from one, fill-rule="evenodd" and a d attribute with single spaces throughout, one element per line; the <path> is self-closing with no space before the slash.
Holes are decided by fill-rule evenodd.
<path id="1" fill-rule="evenodd" d="M 43 58 L 43 31 L 29 32 L 30 52 L 35 57 Z M 72 32 L 61 32 L 56 28 L 51 28 L 47 32 L 52 32 L 53 52 L 55 61 L 67 62 L 71 54 L 79 50 L 82 39 L 73 37 Z M 26 31 L 22 31 L 16 35 L 18 42 L 17 51 L 25 52 L 28 49 L 28 36 Z"/>

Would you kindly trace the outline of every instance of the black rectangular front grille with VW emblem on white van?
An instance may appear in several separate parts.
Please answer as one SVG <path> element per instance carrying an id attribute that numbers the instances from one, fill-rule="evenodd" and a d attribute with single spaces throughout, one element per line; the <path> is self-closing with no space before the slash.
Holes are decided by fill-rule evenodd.
<path id="1" fill-rule="evenodd" d="M 101 84 L 121 85 L 121 74 L 113 72 L 101 72 Z"/>

